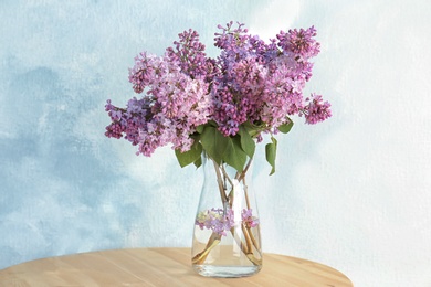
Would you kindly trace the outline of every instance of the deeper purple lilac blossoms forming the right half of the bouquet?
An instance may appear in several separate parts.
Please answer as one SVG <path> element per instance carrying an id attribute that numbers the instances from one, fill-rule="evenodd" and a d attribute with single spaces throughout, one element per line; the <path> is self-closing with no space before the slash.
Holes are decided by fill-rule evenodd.
<path id="1" fill-rule="evenodd" d="M 263 123 L 264 131 L 276 134 L 281 125 L 288 124 L 290 115 L 304 115 L 307 124 L 330 116 L 327 102 L 305 105 L 303 99 L 312 76 L 309 59 L 319 52 L 314 26 L 281 31 L 269 44 L 246 34 L 242 24 L 219 28 L 222 33 L 217 34 L 216 45 L 222 49 L 217 60 L 221 73 L 214 76 L 211 95 L 214 119 L 224 136 L 234 136 L 246 120 Z"/>

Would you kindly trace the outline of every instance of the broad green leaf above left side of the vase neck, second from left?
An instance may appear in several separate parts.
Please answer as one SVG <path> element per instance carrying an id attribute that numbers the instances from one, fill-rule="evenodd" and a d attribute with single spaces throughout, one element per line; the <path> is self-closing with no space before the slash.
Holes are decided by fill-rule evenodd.
<path id="1" fill-rule="evenodd" d="M 200 142 L 208 156 L 213 159 L 218 164 L 222 163 L 223 153 L 228 146 L 229 137 L 224 137 L 216 127 L 204 127 Z"/>

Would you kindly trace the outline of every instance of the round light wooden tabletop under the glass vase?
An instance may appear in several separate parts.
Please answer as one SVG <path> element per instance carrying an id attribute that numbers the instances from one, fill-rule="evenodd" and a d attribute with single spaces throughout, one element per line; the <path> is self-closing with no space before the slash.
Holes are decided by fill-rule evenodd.
<path id="1" fill-rule="evenodd" d="M 353 286 L 338 270 L 290 256 L 264 254 L 262 270 L 243 278 L 196 274 L 189 248 L 136 248 L 32 261 L 0 270 L 0 286 Z"/>

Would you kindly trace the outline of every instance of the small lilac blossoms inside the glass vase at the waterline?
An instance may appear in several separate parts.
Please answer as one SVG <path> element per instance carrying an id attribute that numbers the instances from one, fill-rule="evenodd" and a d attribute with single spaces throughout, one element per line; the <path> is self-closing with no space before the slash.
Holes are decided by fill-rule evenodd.
<path id="1" fill-rule="evenodd" d="M 253 216 L 251 209 L 243 209 L 241 219 L 242 223 L 240 224 L 244 224 L 248 228 L 259 225 L 259 219 Z M 227 209 L 225 212 L 222 209 L 201 211 L 196 217 L 196 225 L 201 230 L 211 230 L 219 235 L 225 236 L 227 232 L 235 226 L 234 213 L 231 209 Z"/>

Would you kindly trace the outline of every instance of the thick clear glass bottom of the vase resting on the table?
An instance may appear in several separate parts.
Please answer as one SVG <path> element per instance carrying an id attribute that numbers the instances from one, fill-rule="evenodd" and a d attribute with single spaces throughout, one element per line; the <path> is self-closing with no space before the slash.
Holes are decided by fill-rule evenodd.
<path id="1" fill-rule="evenodd" d="M 204 277 L 238 278 L 252 276 L 261 270 L 262 266 L 214 266 L 193 265 L 193 269 Z"/>

